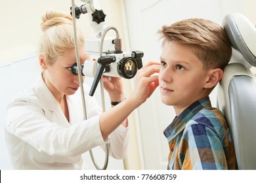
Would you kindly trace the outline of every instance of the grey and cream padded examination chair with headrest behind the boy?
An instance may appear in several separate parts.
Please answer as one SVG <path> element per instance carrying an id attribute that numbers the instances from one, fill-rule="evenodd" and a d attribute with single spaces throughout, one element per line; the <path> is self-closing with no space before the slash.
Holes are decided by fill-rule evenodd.
<path id="1" fill-rule="evenodd" d="M 256 29 L 240 13 L 224 17 L 232 58 L 217 90 L 217 106 L 231 131 L 238 169 L 256 169 Z"/>

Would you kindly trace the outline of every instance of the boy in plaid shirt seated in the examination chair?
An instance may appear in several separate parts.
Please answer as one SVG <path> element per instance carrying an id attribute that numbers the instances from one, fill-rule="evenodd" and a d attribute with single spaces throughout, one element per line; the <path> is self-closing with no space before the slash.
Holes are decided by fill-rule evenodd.
<path id="1" fill-rule="evenodd" d="M 194 18 L 158 33 L 161 101 L 176 113 L 163 132 L 170 149 L 167 169 L 236 169 L 228 125 L 209 100 L 232 54 L 223 28 Z"/>

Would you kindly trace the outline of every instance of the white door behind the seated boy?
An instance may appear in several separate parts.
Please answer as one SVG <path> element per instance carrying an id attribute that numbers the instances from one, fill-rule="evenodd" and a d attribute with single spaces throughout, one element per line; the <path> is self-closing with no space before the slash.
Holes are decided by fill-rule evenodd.
<path id="1" fill-rule="evenodd" d="M 205 18 L 221 24 L 228 13 L 243 12 L 242 0 L 124 0 L 131 50 L 144 52 L 143 62 L 158 61 L 161 54 L 158 29 L 185 18 Z M 211 94 L 215 105 L 216 94 Z M 175 112 L 161 103 L 156 92 L 138 108 L 144 169 L 166 169 L 169 147 L 163 130 Z"/>

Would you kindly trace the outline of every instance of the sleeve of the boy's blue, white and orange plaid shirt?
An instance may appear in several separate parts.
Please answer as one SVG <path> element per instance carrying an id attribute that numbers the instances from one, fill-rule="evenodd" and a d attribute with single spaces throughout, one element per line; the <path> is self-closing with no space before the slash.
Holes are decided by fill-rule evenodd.
<path id="1" fill-rule="evenodd" d="M 180 144 L 179 163 L 182 169 L 228 169 L 217 131 L 204 124 L 187 125 Z"/>

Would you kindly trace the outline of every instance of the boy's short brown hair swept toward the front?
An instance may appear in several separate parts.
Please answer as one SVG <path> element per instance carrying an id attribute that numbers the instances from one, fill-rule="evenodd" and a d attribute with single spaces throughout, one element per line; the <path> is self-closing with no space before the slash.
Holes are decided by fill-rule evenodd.
<path id="1" fill-rule="evenodd" d="M 215 22 L 190 18 L 172 25 L 163 25 L 158 31 L 166 41 L 175 41 L 189 46 L 203 62 L 205 69 L 224 69 L 230 61 L 232 47 L 224 29 Z"/>

